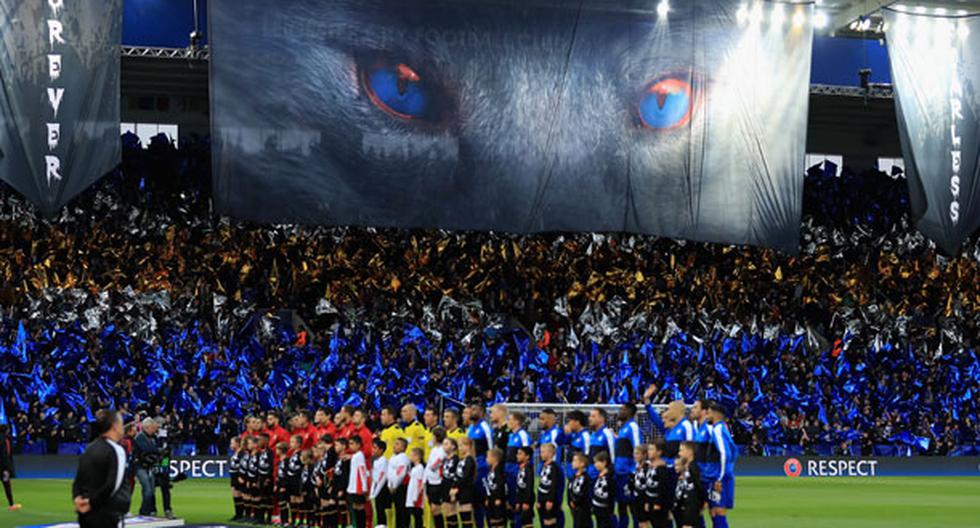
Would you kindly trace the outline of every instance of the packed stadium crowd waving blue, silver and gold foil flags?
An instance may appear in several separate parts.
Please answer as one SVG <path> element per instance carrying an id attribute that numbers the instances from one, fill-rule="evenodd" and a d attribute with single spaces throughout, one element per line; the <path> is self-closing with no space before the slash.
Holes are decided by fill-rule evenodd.
<path id="1" fill-rule="evenodd" d="M 0 422 L 88 409 L 216 452 L 259 409 L 710 398 L 749 453 L 972 453 L 980 243 L 945 257 L 905 182 L 806 179 L 798 255 L 625 234 L 255 226 L 206 142 L 141 149 L 53 219 L 0 194 Z M 474 366 L 479 366 L 475 368 Z"/>

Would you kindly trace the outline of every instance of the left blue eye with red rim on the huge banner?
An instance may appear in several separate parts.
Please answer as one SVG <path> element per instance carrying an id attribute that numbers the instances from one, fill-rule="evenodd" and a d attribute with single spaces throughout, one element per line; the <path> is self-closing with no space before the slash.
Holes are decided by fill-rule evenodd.
<path id="1" fill-rule="evenodd" d="M 401 119 L 425 115 L 429 98 L 421 77 L 405 64 L 378 66 L 367 73 L 365 89 L 368 98 L 384 112 Z"/>

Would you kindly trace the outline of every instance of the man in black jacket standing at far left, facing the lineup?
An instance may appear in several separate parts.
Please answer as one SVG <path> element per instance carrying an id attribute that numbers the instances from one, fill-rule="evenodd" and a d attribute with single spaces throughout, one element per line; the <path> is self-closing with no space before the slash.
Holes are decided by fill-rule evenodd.
<path id="1" fill-rule="evenodd" d="M 72 498 L 80 528 L 117 528 L 129 510 L 130 489 L 125 485 L 126 451 L 122 416 L 116 411 L 99 411 L 93 424 L 99 437 L 78 460 L 72 483 Z"/>

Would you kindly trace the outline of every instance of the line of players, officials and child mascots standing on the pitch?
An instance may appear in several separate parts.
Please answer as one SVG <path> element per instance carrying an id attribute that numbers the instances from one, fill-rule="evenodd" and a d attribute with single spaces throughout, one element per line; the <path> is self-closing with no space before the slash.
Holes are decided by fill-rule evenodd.
<path id="1" fill-rule="evenodd" d="M 422 526 L 426 509 L 426 526 L 434 528 L 530 527 L 535 512 L 543 526 L 563 528 L 567 499 L 576 527 L 626 528 L 630 518 L 653 528 L 672 520 L 704 526 L 705 503 L 713 526 L 727 527 L 736 449 L 717 402 L 696 402 L 690 417 L 680 401 L 662 414 L 648 406 L 664 438 L 650 445 L 641 443 L 635 405 L 620 408 L 618 433 L 606 427 L 602 409 L 588 417 L 572 411 L 563 427 L 545 410 L 537 465 L 523 414 L 494 405 L 488 421 L 483 412 L 480 405 L 449 410 L 440 425 L 432 411 L 419 422 L 412 405 L 398 423 L 387 408 L 376 433 L 366 429 L 363 411 L 344 408 L 336 419 L 318 411 L 312 425 L 300 412 L 290 420 L 291 437 L 272 414 L 266 431 L 250 420 L 232 446 L 236 520 L 360 528 L 373 505 L 377 524 L 399 528 Z M 283 438 L 273 454 L 270 440 Z"/>

